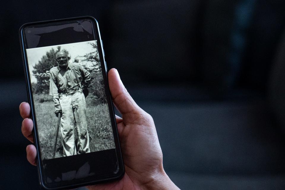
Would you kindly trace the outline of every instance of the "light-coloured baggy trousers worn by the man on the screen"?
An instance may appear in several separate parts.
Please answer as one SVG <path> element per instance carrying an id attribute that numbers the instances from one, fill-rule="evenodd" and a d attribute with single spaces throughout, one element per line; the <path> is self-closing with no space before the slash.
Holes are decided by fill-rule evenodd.
<path id="1" fill-rule="evenodd" d="M 63 138 L 64 156 L 90 152 L 84 94 L 81 91 L 74 94 L 59 94 L 59 103 L 62 110 L 60 130 Z M 78 134 L 77 152 L 75 148 L 75 126 Z"/>

